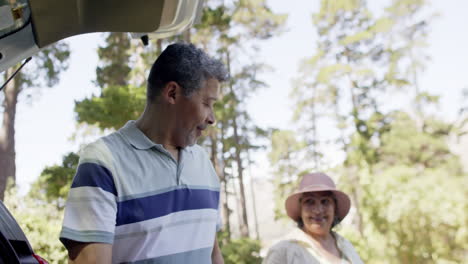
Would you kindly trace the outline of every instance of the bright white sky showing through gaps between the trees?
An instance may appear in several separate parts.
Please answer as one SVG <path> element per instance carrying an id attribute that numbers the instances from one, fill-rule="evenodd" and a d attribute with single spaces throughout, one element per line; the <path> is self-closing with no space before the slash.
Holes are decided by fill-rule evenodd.
<path id="1" fill-rule="evenodd" d="M 258 92 L 248 110 L 262 127 L 288 128 L 292 102 L 288 98 L 291 79 L 296 77 L 299 61 L 314 52 L 314 28 L 311 14 L 313 1 L 271 1 L 276 12 L 289 13 L 289 31 L 262 45 L 261 58 L 275 72 L 265 75 L 270 88 Z M 318 1 L 316 1 L 318 2 Z M 373 4 L 376 4 L 372 1 Z M 461 103 L 461 89 L 468 87 L 468 1 L 433 0 L 440 17 L 432 24 L 428 53 L 431 61 L 421 75 L 421 87 L 442 96 L 441 111 L 452 119 Z M 76 129 L 74 101 L 97 91 L 92 83 L 97 64 L 96 48 L 99 34 L 68 39 L 72 48 L 70 68 L 53 88 L 44 88 L 30 105 L 19 104 L 16 119 L 17 182 L 26 191 L 46 166 L 59 164 L 62 156 L 77 150 L 70 141 Z M 264 156 L 259 156 L 264 164 Z M 257 176 L 268 173 L 261 166 Z"/>

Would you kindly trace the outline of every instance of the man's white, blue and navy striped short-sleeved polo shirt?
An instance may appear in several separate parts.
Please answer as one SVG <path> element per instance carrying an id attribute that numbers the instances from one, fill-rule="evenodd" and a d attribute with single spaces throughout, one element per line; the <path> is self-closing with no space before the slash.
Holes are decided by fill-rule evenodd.
<path id="1" fill-rule="evenodd" d="M 219 179 L 198 145 L 175 161 L 129 121 L 86 146 L 61 239 L 112 244 L 112 263 L 211 263 Z"/>

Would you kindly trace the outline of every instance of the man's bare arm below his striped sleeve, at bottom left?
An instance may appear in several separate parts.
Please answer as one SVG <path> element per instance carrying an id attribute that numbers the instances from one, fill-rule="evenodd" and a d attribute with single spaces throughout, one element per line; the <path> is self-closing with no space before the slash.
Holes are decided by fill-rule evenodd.
<path id="1" fill-rule="evenodd" d="M 68 263 L 111 263 L 112 245 L 105 243 L 81 243 L 67 240 L 65 243 L 68 250 Z"/>

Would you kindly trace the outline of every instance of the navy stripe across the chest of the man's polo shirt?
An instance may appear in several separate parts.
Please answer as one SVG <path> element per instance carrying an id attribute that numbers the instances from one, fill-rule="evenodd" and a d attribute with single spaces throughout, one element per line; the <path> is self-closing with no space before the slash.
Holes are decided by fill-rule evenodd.
<path id="1" fill-rule="evenodd" d="M 202 189 L 176 189 L 117 203 L 117 226 L 145 221 L 171 213 L 218 209 L 219 192 Z"/>

